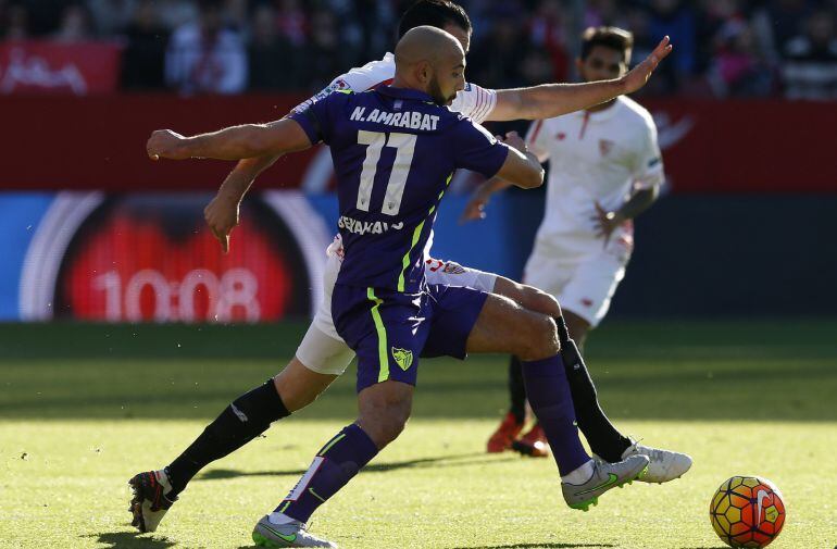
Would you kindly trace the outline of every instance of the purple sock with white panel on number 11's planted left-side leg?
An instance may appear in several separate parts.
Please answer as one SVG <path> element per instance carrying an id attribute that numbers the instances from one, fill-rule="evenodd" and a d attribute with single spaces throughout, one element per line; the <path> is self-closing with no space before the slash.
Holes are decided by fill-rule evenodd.
<path id="1" fill-rule="evenodd" d="M 343 427 L 317 452 L 276 512 L 308 522 L 316 508 L 346 486 L 377 453 L 377 446 L 362 428 L 354 424 Z"/>

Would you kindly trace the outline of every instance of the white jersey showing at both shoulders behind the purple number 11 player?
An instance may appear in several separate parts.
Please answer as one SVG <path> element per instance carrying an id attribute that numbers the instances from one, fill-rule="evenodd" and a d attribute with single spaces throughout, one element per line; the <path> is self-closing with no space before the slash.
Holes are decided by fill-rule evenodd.
<path id="1" fill-rule="evenodd" d="M 378 86 L 392 83 L 396 76 L 396 57 L 387 52 L 384 59 L 372 61 L 363 66 L 352 68 L 348 73 L 341 74 L 320 91 L 316 96 L 303 102 L 296 109 L 307 107 L 317 99 L 322 99 L 332 91 L 338 89 L 350 89 L 352 91 L 366 91 Z M 475 84 L 465 84 L 465 89 L 457 93 L 457 98 L 449 107 L 451 111 L 459 112 L 469 116 L 477 124 L 482 124 L 491 114 L 497 104 L 497 92 L 492 89 L 480 88 Z"/>

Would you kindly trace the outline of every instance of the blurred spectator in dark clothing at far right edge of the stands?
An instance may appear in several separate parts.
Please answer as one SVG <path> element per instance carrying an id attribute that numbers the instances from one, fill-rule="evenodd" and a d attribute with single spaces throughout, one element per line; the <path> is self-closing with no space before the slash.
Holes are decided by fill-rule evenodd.
<path id="1" fill-rule="evenodd" d="M 813 13 L 804 34 L 788 40 L 783 73 L 789 99 L 837 99 L 837 37 L 829 11 Z"/>

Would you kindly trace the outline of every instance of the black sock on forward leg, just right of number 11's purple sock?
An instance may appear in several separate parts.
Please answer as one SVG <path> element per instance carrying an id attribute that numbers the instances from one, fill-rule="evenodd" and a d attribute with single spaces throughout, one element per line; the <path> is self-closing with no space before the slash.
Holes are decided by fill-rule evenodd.
<path id="1" fill-rule="evenodd" d="M 594 453 L 611 463 L 621 461 L 622 453 L 630 446 L 630 439 L 622 436 L 604 415 L 596 395 L 596 386 L 575 341 L 570 338 L 562 340 L 561 355 L 570 380 L 578 429 L 584 433 Z"/>

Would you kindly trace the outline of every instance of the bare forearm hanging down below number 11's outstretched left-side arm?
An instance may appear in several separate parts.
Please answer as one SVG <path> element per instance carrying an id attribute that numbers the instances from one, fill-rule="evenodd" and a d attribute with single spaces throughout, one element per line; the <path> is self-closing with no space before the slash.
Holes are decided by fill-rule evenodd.
<path id="1" fill-rule="evenodd" d="M 236 167 L 229 172 L 217 194 L 203 209 L 203 219 L 212 234 L 221 242 L 224 253 L 229 251 L 229 234 L 238 225 L 239 207 L 250 186 L 264 170 L 273 165 L 279 158 L 270 154 L 254 159 L 239 160 Z"/>

